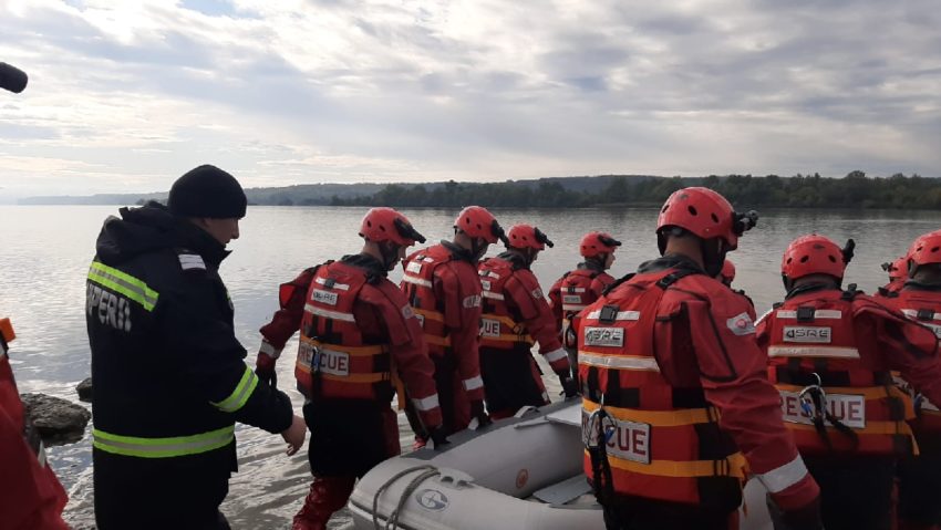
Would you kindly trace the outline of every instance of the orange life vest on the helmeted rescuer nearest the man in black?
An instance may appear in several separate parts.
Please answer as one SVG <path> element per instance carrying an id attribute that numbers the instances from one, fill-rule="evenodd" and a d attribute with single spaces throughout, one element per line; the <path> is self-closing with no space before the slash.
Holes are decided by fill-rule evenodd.
<path id="1" fill-rule="evenodd" d="M 340 261 L 317 270 L 307 293 L 294 365 L 298 387 L 306 397 L 385 403 L 392 398 L 387 345 L 366 342 L 353 315 L 353 304 L 365 284 L 362 269 Z"/>

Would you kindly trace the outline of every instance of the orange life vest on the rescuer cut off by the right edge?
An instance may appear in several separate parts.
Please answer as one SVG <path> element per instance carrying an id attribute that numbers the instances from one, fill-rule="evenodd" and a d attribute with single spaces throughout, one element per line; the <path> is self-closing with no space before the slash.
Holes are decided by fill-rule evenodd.
<path id="1" fill-rule="evenodd" d="M 904 313 L 906 316 L 934 330 L 934 334 L 941 337 L 941 292 L 903 289 L 892 294 L 892 305 Z M 904 380 L 896 376 L 898 386 L 914 398 L 916 419 L 911 426 L 916 433 L 931 433 L 941 435 L 941 411 L 924 396 L 916 394 L 911 385 Z"/>

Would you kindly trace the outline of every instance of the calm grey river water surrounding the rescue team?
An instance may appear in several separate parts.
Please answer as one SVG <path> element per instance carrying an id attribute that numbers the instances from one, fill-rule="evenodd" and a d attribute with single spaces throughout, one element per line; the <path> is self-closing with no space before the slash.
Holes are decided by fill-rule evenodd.
<path id="1" fill-rule="evenodd" d="M 356 252 L 356 237 L 364 208 L 251 207 L 241 222 L 241 238 L 230 243 L 232 254 L 221 276 L 236 306 L 236 330 L 250 352 L 259 344 L 258 328 L 277 309 L 278 284 L 301 269 Z M 451 236 L 454 209 L 403 209 L 430 241 Z M 538 226 L 556 243 L 542 252 L 534 271 L 549 285 L 578 262 L 578 241 L 590 230 L 606 230 L 623 242 L 612 273 L 618 277 L 656 257 L 651 208 L 494 210 L 499 221 Z M 112 206 L 0 206 L 0 316 L 10 316 L 18 339 L 11 358 L 21 392 L 43 392 L 77 403 L 74 386 L 90 374 L 84 322 L 85 276 L 94 254 L 102 221 L 116 215 Z M 741 240 L 730 254 L 735 262 L 735 288 L 744 289 L 761 314 L 783 297 L 780 254 L 797 236 L 816 231 L 839 243 L 855 238 L 857 253 L 847 282 L 867 292 L 886 282 L 879 264 L 904 252 L 914 237 L 941 228 L 938 211 L 765 211 L 758 228 Z M 492 249 L 489 254 L 496 253 Z M 401 270 L 391 276 L 399 281 Z M 279 363 L 279 381 L 291 381 L 291 352 Z M 557 391 L 558 383 L 547 378 Z M 283 387 L 289 387 L 287 383 Z M 301 398 L 289 391 L 296 408 Z M 552 392 L 557 394 L 557 392 Z M 403 447 L 411 433 L 400 420 Z M 287 457 L 279 436 L 259 429 L 238 428 L 239 472 L 230 481 L 223 510 L 235 528 L 286 528 L 307 493 L 310 475 L 304 451 Z M 90 437 L 50 449 L 50 461 L 70 491 L 66 520 L 91 528 L 92 474 Z M 334 518 L 331 527 L 348 522 Z"/>

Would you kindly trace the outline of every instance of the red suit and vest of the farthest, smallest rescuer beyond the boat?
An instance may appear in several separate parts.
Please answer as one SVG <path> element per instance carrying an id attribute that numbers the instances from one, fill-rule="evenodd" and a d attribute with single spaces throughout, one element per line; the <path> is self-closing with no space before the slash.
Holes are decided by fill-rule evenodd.
<path id="1" fill-rule="evenodd" d="M 567 349 L 576 347 L 576 336 L 571 329 L 572 316 L 598 300 L 611 283 L 614 283 L 614 278 L 604 272 L 597 261 L 588 260 L 562 274 L 549 289 L 549 304 L 556 318 L 556 330 Z"/>

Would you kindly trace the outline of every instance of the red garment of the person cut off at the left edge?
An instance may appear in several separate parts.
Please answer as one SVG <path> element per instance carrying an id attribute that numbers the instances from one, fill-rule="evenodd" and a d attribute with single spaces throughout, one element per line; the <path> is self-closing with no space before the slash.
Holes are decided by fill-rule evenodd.
<path id="1" fill-rule="evenodd" d="M 69 497 L 45 461 L 42 443 L 25 437 L 23 404 L 7 356 L 12 340 L 9 320 L 0 323 L 0 527 L 12 530 L 66 530 L 62 510 Z"/>

